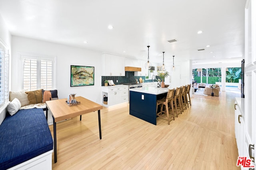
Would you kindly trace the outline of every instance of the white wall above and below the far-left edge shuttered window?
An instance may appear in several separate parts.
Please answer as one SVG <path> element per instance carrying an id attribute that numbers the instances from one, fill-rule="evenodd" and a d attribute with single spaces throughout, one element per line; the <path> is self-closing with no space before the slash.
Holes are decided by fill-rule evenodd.
<path id="1" fill-rule="evenodd" d="M 4 45 L 7 46 L 9 49 L 11 48 L 11 35 L 1 15 L 0 15 L 0 41 L 4 43 Z M 6 113 L 7 113 L 6 106 L 0 108 L 0 124 L 4 120 Z"/>

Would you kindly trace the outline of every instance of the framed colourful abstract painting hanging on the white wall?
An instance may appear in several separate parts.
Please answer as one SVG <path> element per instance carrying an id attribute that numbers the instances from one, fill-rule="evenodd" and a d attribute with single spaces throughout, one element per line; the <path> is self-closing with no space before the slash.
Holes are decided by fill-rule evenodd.
<path id="1" fill-rule="evenodd" d="M 70 87 L 93 85 L 94 66 L 70 65 Z"/>

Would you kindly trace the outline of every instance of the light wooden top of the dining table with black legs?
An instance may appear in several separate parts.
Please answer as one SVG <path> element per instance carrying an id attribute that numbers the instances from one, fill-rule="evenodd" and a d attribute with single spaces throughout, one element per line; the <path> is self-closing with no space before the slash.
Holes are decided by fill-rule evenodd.
<path id="1" fill-rule="evenodd" d="M 46 107 L 52 112 L 55 122 L 70 119 L 92 111 L 98 111 L 103 108 L 102 105 L 81 96 L 76 97 L 76 101 L 81 102 L 81 104 L 76 106 L 68 106 L 66 100 L 67 99 L 46 101 Z"/>

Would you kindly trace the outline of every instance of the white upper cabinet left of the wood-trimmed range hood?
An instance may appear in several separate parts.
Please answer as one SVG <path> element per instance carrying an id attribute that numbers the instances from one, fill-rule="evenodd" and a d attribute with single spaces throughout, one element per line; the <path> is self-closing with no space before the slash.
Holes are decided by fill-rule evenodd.
<path id="1" fill-rule="evenodd" d="M 125 76 L 124 66 L 124 57 L 102 54 L 102 76 Z"/>

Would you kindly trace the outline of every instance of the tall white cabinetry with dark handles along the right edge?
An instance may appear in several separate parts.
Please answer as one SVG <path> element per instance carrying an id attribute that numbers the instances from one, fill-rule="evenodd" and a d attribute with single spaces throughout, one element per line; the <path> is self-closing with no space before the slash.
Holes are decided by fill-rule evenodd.
<path id="1" fill-rule="evenodd" d="M 244 106 L 241 125 L 235 124 L 236 141 L 239 156 L 255 157 L 256 143 L 256 1 L 247 0 L 245 6 L 245 70 L 244 99 L 236 98 L 237 106 Z M 241 104 L 239 103 L 241 100 Z M 244 103 L 243 103 L 244 101 Z M 240 107 L 240 108 L 241 108 Z M 236 109 L 236 119 L 238 110 Z M 243 133 L 243 135 L 241 134 Z M 242 143 L 242 144 L 241 144 Z M 255 166 L 254 162 L 251 162 Z M 243 168 L 242 168 L 243 169 Z M 248 168 L 247 168 L 248 169 Z"/>

